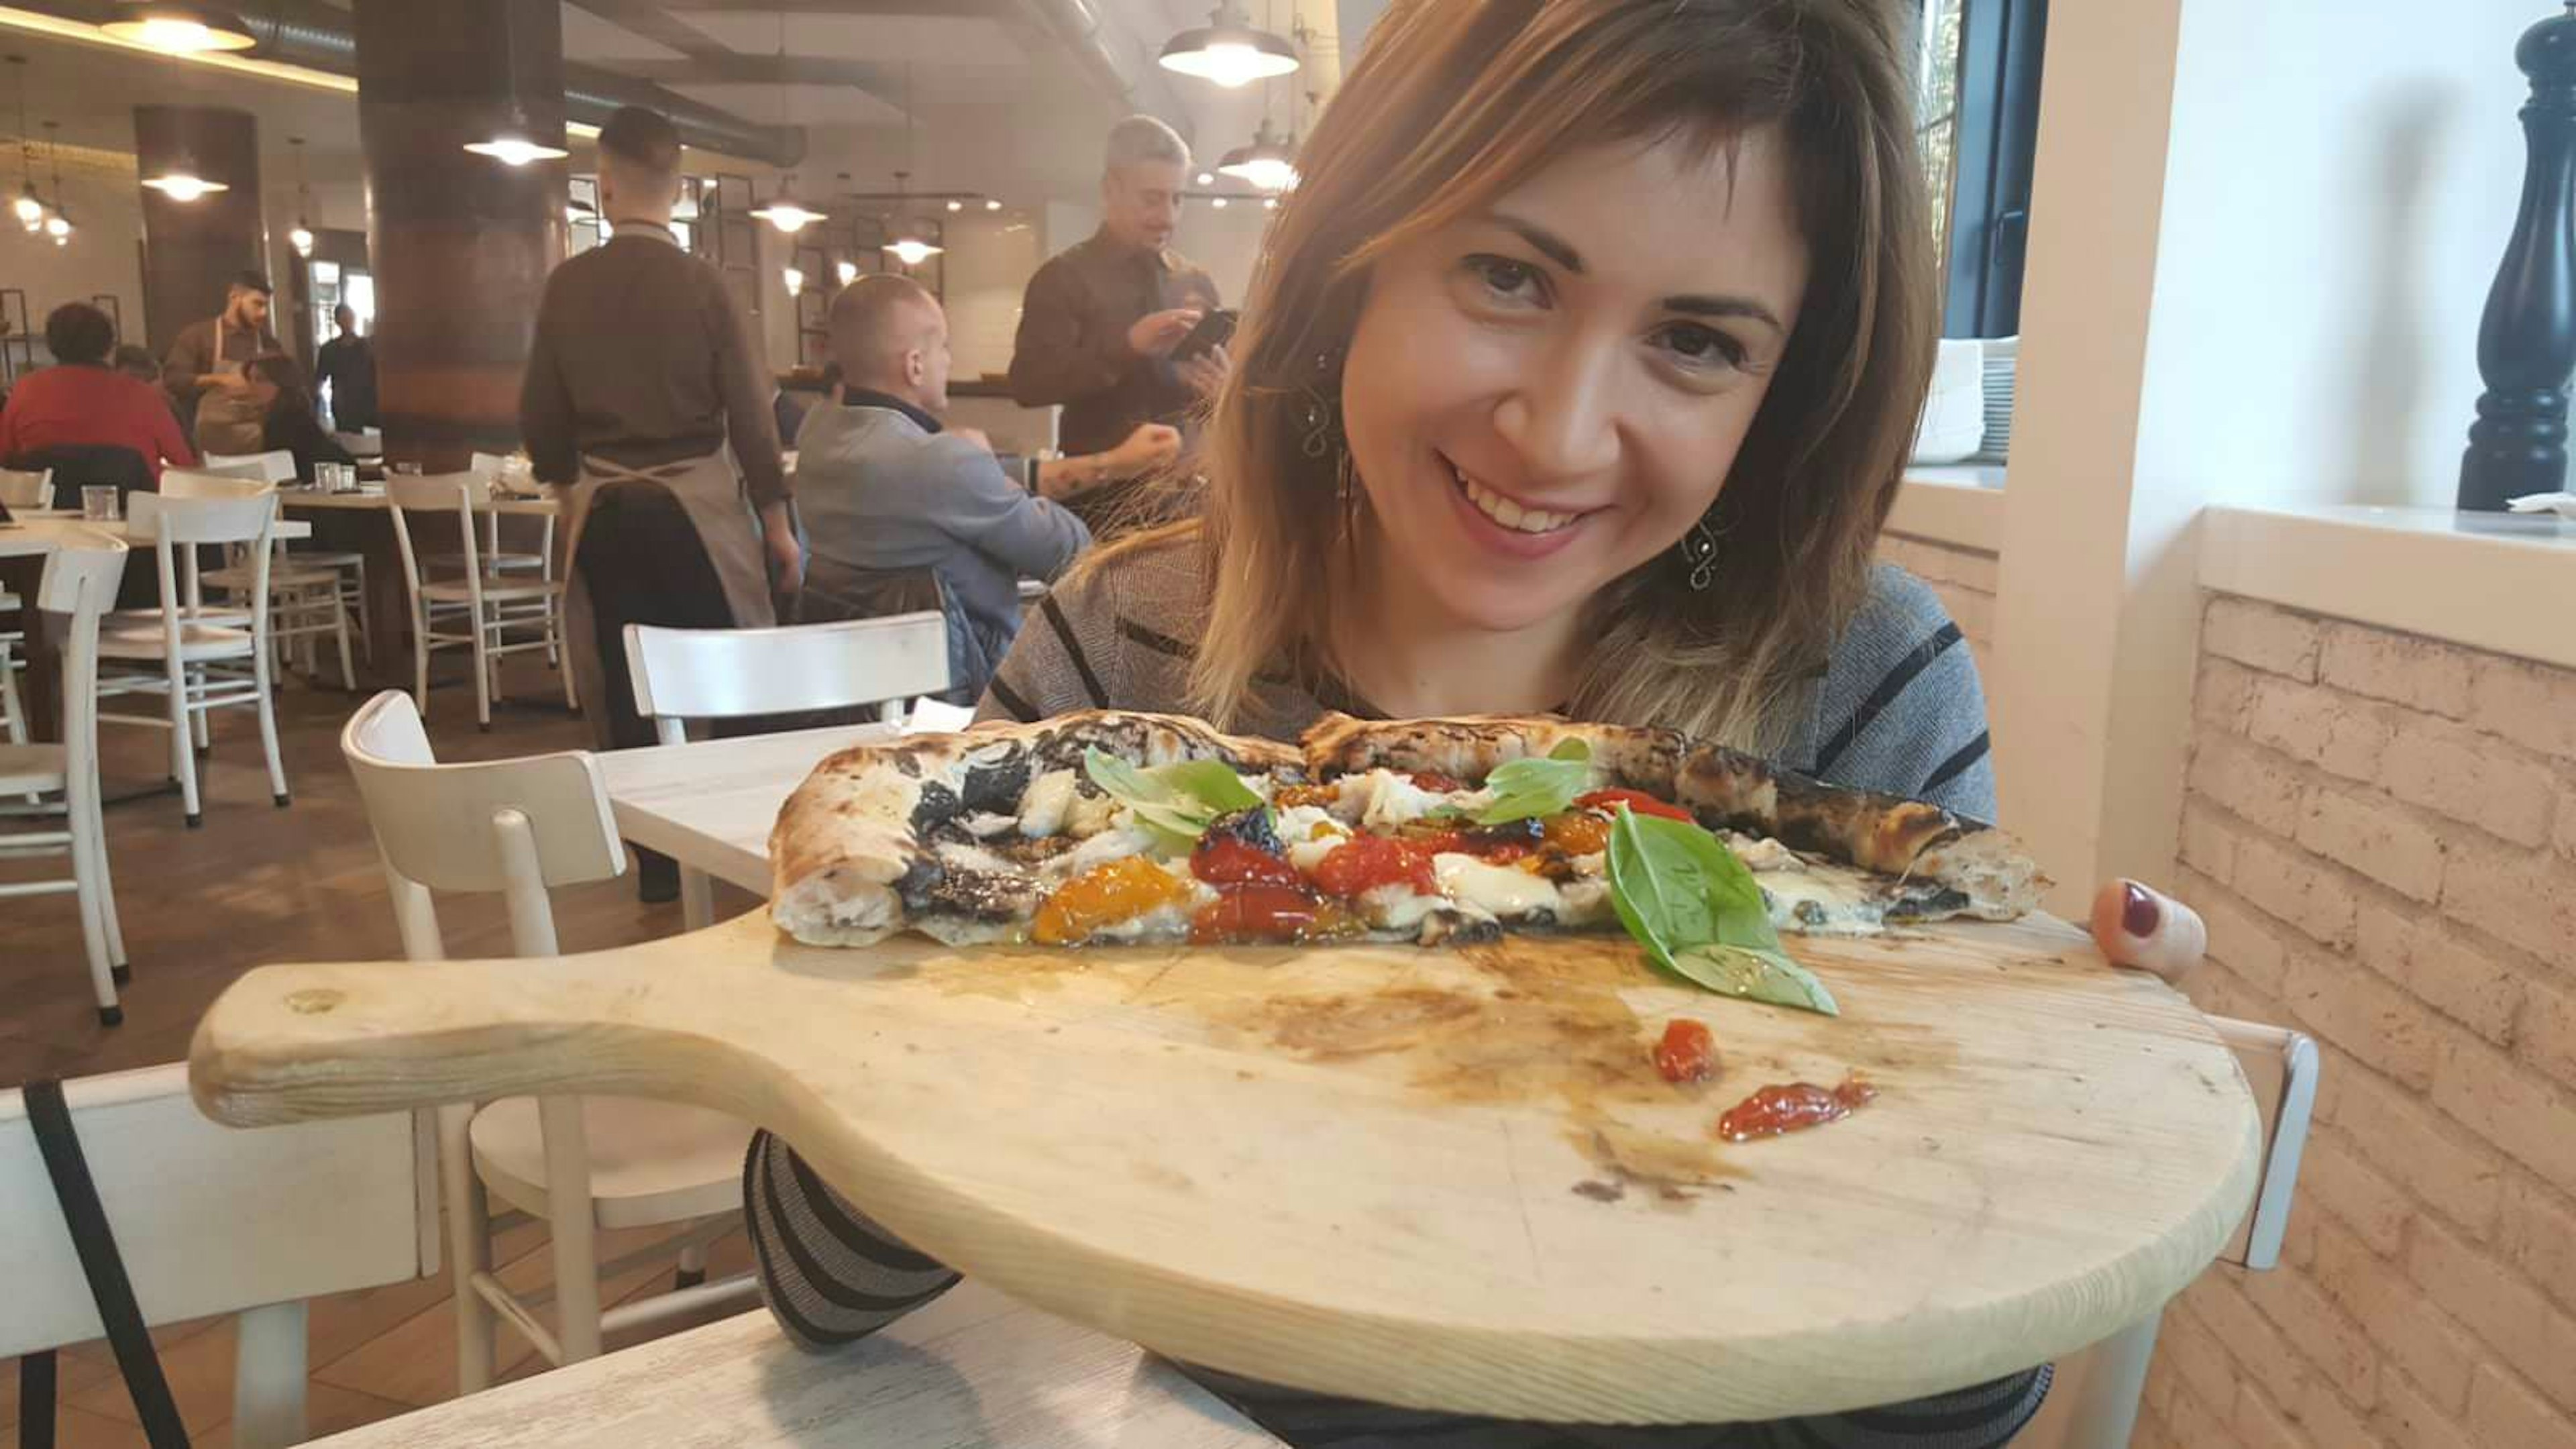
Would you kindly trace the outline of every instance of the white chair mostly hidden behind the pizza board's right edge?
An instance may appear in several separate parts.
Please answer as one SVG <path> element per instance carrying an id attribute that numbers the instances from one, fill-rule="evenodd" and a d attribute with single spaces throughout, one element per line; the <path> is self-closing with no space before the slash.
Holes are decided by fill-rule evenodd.
<path id="1" fill-rule="evenodd" d="M 2246 1085 L 2254 1088 L 2254 1106 L 2262 1111 L 2262 1176 L 2254 1189 L 2254 1209 L 2236 1225 L 2236 1235 L 2218 1250 L 2218 1261 L 2264 1271 L 2280 1263 L 2280 1235 L 2290 1225 L 2298 1158 L 2308 1142 L 2308 1114 L 2316 1106 L 2316 1042 L 2282 1026 L 2228 1016 L 2213 1016 L 2210 1026 L 2236 1052 L 2236 1065 L 2244 1070 Z M 2063 1359 L 2048 1403 L 2022 1428 L 2014 1446 L 2128 1449 L 2161 1320 L 2161 1310 L 2151 1312 Z"/>

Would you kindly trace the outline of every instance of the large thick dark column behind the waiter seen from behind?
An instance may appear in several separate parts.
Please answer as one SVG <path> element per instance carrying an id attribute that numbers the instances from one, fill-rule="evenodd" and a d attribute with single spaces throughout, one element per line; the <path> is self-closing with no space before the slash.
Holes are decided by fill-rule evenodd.
<path id="1" fill-rule="evenodd" d="M 376 402 L 386 459 L 428 472 L 518 446 L 536 302 L 564 258 L 564 162 L 464 150 L 505 126 L 564 144 L 556 5 L 358 0 Z"/>

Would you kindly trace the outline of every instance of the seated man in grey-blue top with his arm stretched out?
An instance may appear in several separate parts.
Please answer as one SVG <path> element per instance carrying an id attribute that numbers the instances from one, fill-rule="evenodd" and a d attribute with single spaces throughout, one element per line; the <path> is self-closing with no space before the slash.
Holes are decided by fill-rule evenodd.
<path id="1" fill-rule="evenodd" d="M 860 276 L 832 297 L 840 405 L 796 433 L 806 567 L 799 619 L 938 608 L 948 678 L 974 704 L 1020 632 L 1020 580 L 1051 580 L 1092 541 L 1061 503 L 1172 462 L 1180 433 L 1139 423 L 1113 449 L 1005 467 L 948 428 L 948 315 L 922 284 Z"/>

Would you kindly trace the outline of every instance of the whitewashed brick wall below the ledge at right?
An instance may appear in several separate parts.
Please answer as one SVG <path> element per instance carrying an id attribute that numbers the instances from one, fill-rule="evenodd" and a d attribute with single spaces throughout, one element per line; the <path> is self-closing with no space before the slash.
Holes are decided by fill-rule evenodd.
<path id="1" fill-rule="evenodd" d="M 2576 673 L 2213 598 L 2190 993 L 2318 1039 L 2282 1266 L 2164 1315 L 2136 1444 L 2576 1449 Z"/>

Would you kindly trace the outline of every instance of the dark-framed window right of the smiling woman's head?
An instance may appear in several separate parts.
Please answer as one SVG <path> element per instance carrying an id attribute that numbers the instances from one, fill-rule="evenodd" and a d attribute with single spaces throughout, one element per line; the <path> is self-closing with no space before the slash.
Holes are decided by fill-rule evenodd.
<path id="1" fill-rule="evenodd" d="M 1919 137 L 1950 338 L 2022 330 L 2045 34 L 2048 0 L 1922 0 Z"/>

